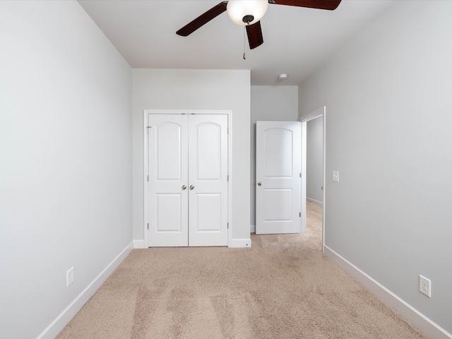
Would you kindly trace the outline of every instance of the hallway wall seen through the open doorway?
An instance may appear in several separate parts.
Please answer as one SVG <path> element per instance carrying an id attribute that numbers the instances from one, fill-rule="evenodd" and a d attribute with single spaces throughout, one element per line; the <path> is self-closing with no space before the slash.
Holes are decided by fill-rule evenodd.
<path id="1" fill-rule="evenodd" d="M 307 121 L 306 196 L 323 203 L 323 117 Z"/>

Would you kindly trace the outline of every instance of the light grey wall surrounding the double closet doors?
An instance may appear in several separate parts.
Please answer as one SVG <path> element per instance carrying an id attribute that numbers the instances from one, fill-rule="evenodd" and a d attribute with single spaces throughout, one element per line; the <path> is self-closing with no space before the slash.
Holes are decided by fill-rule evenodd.
<path id="1" fill-rule="evenodd" d="M 232 238 L 250 239 L 250 72 L 133 69 L 133 237 L 143 234 L 143 109 L 232 110 Z"/>

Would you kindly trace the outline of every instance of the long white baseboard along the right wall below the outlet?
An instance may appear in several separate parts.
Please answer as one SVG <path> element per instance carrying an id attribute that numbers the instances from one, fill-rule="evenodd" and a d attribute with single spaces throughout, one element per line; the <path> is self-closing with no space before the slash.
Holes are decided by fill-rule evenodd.
<path id="1" fill-rule="evenodd" d="M 347 261 L 335 251 L 330 249 L 328 246 L 324 246 L 325 254 L 329 256 L 333 261 L 344 268 L 352 277 L 362 283 L 364 286 L 369 288 L 378 297 L 380 297 L 389 306 L 393 307 L 399 314 L 405 317 L 410 323 L 419 328 L 422 332 L 428 335 L 429 338 L 435 339 L 452 339 L 452 334 L 448 333 L 444 328 L 441 328 L 438 324 L 434 323 L 431 319 L 424 316 L 420 311 L 417 311 L 410 304 L 405 302 L 403 299 L 395 295 L 393 292 L 388 290 L 386 287 L 378 283 L 376 280 L 371 278 L 369 275 L 364 273 L 362 270 L 357 268 L 355 265 Z"/>

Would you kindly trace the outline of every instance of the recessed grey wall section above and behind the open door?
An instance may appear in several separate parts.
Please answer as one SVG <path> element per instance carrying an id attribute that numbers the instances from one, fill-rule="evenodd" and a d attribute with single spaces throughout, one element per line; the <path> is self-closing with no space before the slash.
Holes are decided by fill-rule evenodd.
<path id="1" fill-rule="evenodd" d="M 256 121 L 297 121 L 298 86 L 251 86 L 251 228 L 256 225 Z"/>

